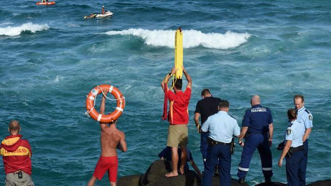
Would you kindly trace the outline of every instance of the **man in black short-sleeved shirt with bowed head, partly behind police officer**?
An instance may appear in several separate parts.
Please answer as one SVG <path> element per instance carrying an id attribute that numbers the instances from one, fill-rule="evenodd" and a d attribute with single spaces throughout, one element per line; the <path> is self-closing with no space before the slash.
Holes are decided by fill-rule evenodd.
<path id="1" fill-rule="evenodd" d="M 206 165 L 207 157 L 207 138 L 208 133 L 201 132 L 199 117 L 201 116 L 201 125 L 207 120 L 207 118 L 218 112 L 218 106 L 221 99 L 214 98 L 210 94 L 209 89 L 203 89 L 201 91 L 202 100 L 199 100 L 196 106 L 196 111 L 194 112 L 194 121 L 196 122 L 196 127 L 198 133 L 201 133 L 200 136 L 200 151 L 202 154 L 203 164 Z"/>

